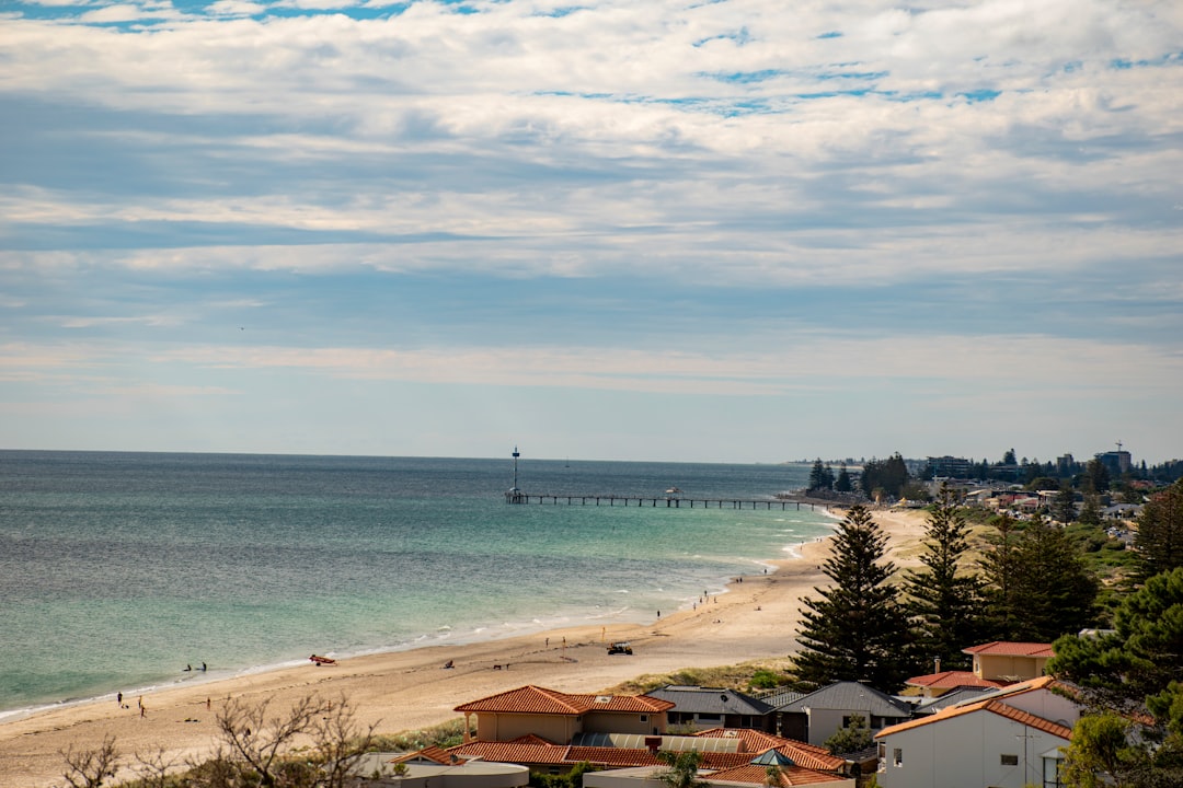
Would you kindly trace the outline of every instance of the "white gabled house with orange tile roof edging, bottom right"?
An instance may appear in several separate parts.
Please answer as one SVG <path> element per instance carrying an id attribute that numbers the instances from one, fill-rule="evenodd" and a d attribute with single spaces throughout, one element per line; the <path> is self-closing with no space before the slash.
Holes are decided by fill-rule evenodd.
<path id="1" fill-rule="evenodd" d="M 1079 706 L 1049 676 L 885 728 L 883 788 L 1059 788 Z"/>

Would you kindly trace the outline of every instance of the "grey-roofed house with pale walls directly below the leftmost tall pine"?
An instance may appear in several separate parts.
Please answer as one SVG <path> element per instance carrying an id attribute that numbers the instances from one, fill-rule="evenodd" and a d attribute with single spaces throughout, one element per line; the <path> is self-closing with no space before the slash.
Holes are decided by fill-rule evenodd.
<path id="1" fill-rule="evenodd" d="M 800 696 L 777 711 L 782 736 L 817 747 L 846 728 L 854 715 L 862 717 L 871 732 L 912 718 L 906 703 L 859 682 L 836 682 Z"/>

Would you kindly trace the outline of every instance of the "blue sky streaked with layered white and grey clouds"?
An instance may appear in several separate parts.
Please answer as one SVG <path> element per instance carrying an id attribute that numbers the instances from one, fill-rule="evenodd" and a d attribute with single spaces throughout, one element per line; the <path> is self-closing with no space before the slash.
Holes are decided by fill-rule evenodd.
<path id="1" fill-rule="evenodd" d="M 0 448 L 1183 456 L 1177 0 L 0 0 Z"/>

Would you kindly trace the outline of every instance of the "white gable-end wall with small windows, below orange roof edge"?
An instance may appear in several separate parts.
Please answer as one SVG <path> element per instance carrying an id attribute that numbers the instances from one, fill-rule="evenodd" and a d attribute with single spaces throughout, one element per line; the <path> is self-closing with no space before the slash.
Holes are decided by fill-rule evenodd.
<path id="1" fill-rule="evenodd" d="M 976 711 L 919 725 L 879 740 L 883 788 L 1024 788 L 1042 784 L 1041 754 L 1066 747 L 1067 740 L 1001 717 Z M 894 764 L 894 751 L 903 755 Z M 1004 766 L 1003 755 L 1017 756 Z"/>

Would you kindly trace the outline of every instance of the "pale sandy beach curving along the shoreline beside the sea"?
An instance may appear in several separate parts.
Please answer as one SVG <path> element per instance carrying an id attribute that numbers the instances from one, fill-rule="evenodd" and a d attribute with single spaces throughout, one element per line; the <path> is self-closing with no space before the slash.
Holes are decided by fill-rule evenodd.
<path id="1" fill-rule="evenodd" d="M 875 520 L 888 536 L 897 565 L 916 562 L 925 519 L 916 512 L 881 510 Z M 645 625 L 581 626 L 510 639 L 442 645 L 356 657 L 336 665 L 244 675 L 219 682 L 167 689 L 138 698 L 112 697 L 43 711 L 0 724 L 0 788 L 41 788 L 62 782 L 62 753 L 96 747 L 114 736 L 132 760 L 135 753 L 163 748 L 183 760 L 209 751 L 214 716 L 227 698 L 271 698 L 283 705 L 318 692 L 345 695 L 364 724 L 395 734 L 458 717 L 467 701 L 525 684 L 565 692 L 597 692 L 645 673 L 683 667 L 730 665 L 784 657 L 796 649 L 800 598 L 828 585 L 820 565 L 828 541 L 800 546 L 800 558 L 776 562 L 776 571 L 733 581 L 729 592 L 661 616 Z M 608 656 L 606 642 L 629 640 L 633 656 Z M 452 660 L 454 667 L 442 666 Z M 121 775 L 121 779 L 128 776 Z"/>

